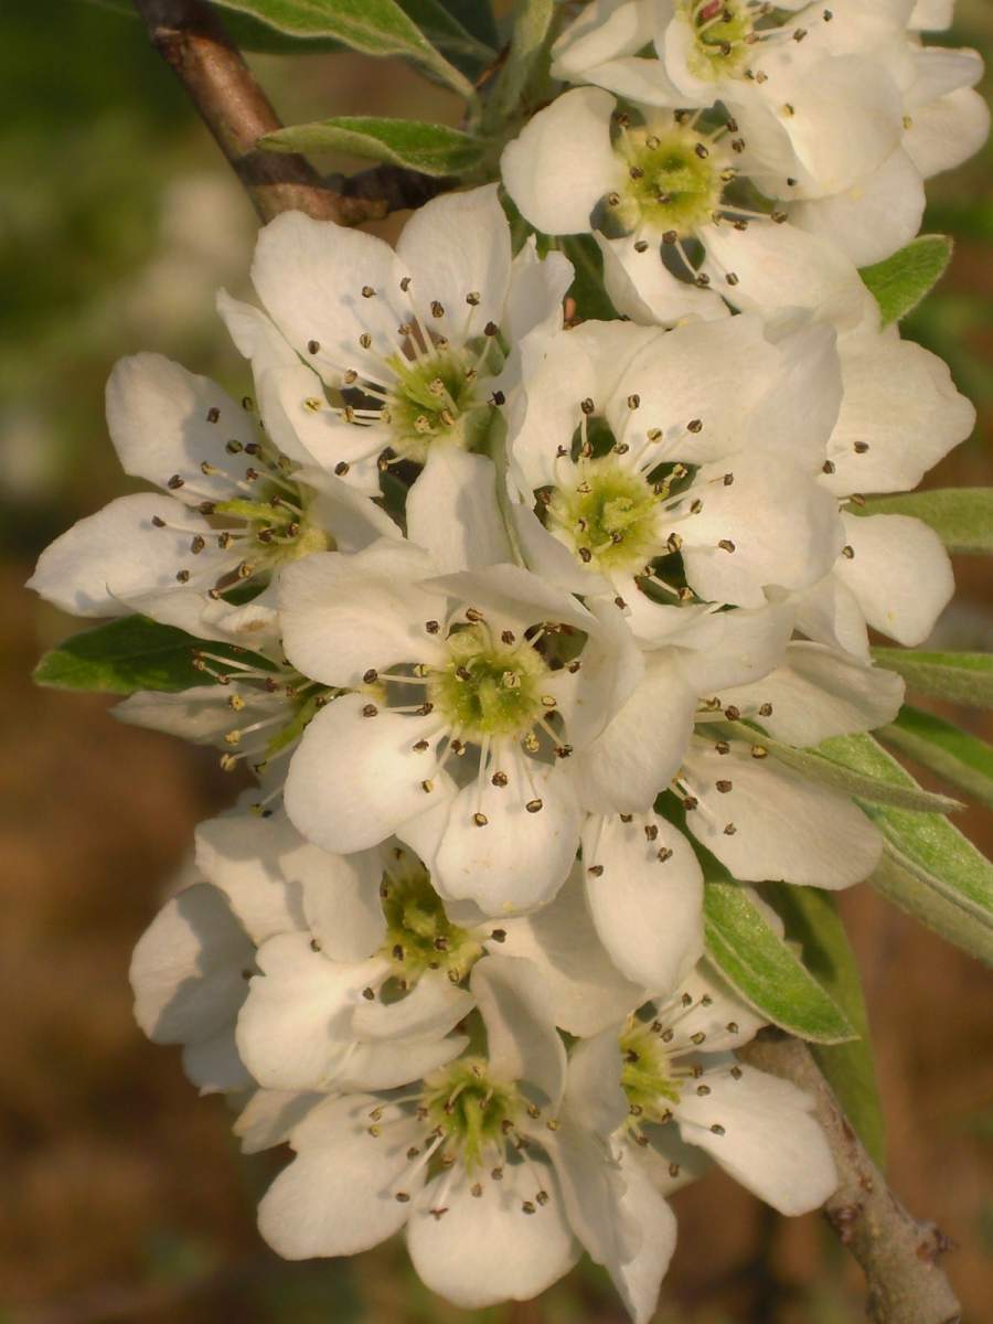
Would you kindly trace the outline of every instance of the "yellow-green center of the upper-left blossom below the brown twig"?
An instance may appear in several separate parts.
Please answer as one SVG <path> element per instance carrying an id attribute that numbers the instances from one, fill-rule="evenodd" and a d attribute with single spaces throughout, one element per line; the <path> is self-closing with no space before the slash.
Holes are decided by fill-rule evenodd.
<path id="1" fill-rule="evenodd" d="M 482 442 L 493 410 L 479 392 L 474 364 L 473 355 L 453 350 L 433 350 L 413 360 L 395 355 L 389 360 L 396 381 L 387 412 L 391 445 L 401 459 L 422 465 L 436 441 L 465 450 Z"/>

